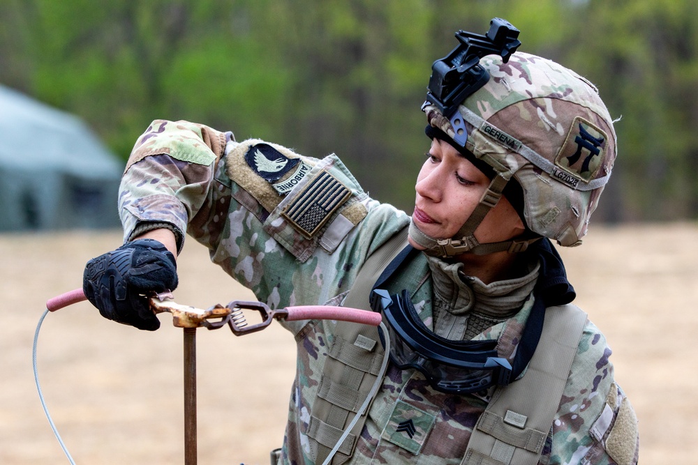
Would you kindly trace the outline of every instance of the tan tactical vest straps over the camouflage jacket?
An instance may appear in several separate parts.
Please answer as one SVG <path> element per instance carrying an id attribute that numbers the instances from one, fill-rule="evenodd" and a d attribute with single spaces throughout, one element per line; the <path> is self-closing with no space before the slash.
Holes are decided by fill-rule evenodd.
<path id="1" fill-rule="evenodd" d="M 405 245 L 406 229 L 373 252 L 343 306 L 370 310 L 368 298 L 373 283 Z M 586 321 L 586 313 L 575 305 L 546 309 L 540 342 L 525 376 L 496 389 L 473 429 L 461 465 L 537 464 Z M 311 406 L 307 434 L 316 464 L 327 460 L 343 434 L 346 437 L 332 457 L 332 464 L 341 465 L 351 458 L 370 409 L 372 399 L 367 396 L 377 380 L 383 379 L 380 367 L 385 365 L 386 357 L 376 328 L 337 323 Z M 364 401 L 369 403 L 364 405 Z M 362 408 L 361 416 L 355 418 Z M 345 433 L 352 420 L 354 424 Z"/>

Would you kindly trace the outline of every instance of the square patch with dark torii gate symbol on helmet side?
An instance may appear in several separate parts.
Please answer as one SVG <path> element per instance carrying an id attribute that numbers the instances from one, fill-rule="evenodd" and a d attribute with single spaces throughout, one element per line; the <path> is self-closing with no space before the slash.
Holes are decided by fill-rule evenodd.
<path id="1" fill-rule="evenodd" d="M 552 176 L 572 187 L 588 183 L 599 171 L 608 136 L 593 123 L 577 116 L 555 158 Z"/>

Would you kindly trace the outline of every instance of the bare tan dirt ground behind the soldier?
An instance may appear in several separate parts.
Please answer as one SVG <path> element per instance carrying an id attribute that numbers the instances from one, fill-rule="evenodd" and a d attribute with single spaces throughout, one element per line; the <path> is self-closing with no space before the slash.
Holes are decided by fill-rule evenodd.
<path id="1" fill-rule="evenodd" d="M 84 263 L 118 246 L 119 233 L 0 236 L 0 463 L 66 457 L 43 413 L 31 369 L 34 331 L 52 296 L 82 285 Z M 577 305 L 614 349 L 616 379 L 640 421 L 641 463 L 698 457 L 698 225 L 593 225 L 581 247 L 560 250 Z M 251 300 L 189 241 L 177 302 L 209 307 Z M 184 462 L 182 333 L 147 333 L 102 319 L 87 303 L 48 314 L 38 376 L 77 464 Z M 295 346 L 278 325 L 235 337 L 197 331 L 200 464 L 267 464 L 281 444 Z"/>

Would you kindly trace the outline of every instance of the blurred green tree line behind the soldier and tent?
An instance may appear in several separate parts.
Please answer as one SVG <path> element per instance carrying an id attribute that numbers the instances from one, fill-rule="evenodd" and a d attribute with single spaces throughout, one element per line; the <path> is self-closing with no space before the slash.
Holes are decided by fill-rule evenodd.
<path id="1" fill-rule="evenodd" d="M 698 218 L 693 0 L 4 0 L 0 83 L 82 116 L 124 159 L 151 120 L 187 119 L 337 153 L 409 209 L 431 63 L 492 17 L 618 119 L 597 220 Z"/>

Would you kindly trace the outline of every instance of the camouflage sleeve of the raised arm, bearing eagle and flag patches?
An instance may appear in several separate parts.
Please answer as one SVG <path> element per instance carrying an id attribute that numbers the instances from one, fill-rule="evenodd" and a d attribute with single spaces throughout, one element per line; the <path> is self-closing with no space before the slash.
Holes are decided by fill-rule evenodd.
<path id="1" fill-rule="evenodd" d="M 258 139 L 238 143 L 205 125 L 159 120 L 133 148 L 119 214 L 126 243 L 155 238 L 170 248 L 174 236 L 178 253 L 191 236 L 274 307 L 339 303 L 358 265 L 409 222 L 370 199 L 336 155 L 318 160 Z"/>

